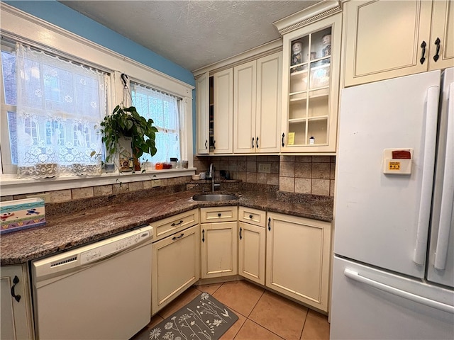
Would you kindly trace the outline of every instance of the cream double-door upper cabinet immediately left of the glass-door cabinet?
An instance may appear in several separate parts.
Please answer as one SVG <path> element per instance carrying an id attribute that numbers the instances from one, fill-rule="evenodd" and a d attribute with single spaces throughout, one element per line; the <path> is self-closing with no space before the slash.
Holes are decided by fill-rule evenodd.
<path id="1" fill-rule="evenodd" d="M 233 68 L 233 152 L 279 152 L 282 52 Z"/>

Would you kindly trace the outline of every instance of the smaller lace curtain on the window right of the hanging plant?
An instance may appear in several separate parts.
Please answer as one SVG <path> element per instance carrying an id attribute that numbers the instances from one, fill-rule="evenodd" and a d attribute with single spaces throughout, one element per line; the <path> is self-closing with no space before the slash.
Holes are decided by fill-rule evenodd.
<path id="1" fill-rule="evenodd" d="M 180 156 L 179 98 L 131 81 L 133 106 L 140 115 L 153 119 L 157 128 L 155 156 L 143 154 L 142 161 L 169 162 Z"/>

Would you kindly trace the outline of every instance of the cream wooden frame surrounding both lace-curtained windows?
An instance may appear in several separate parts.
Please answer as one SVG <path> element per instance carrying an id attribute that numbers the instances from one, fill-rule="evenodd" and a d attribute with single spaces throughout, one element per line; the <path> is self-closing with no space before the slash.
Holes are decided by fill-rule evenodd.
<path id="1" fill-rule="evenodd" d="M 150 87 L 153 87 L 154 89 L 162 90 L 182 98 L 180 103 L 180 115 L 182 117 L 181 124 L 184 127 L 184 130 L 181 131 L 180 135 L 182 140 L 181 154 L 182 159 L 187 159 L 189 162 L 188 169 L 147 171 L 145 174 L 101 174 L 100 176 L 93 177 L 67 176 L 55 179 L 43 179 L 40 181 L 17 179 L 16 174 L 5 174 L 1 171 L 1 196 L 114 184 L 118 183 L 118 180 L 123 183 L 128 183 L 194 174 L 195 169 L 192 166 L 192 90 L 194 89 L 194 86 L 167 76 L 167 74 L 158 72 L 140 62 L 43 21 L 40 18 L 24 13 L 3 2 L 0 3 L 0 11 L 2 12 L 1 33 L 5 38 L 8 38 L 9 40 L 18 40 L 27 43 L 28 45 L 34 45 L 43 50 L 56 51 L 55 54 L 57 55 L 67 57 L 75 62 L 81 62 L 82 64 L 93 65 L 94 67 L 107 72 L 109 72 L 109 70 L 115 70 L 114 72 L 110 72 L 112 77 L 111 84 L 109 84 L 110 91 L 108 93 L 107 102 L 107 112 L 109 113 L 111 113 L 114 107 L 123 100 L 121 73 L 128 74 L 130 79 L 134 79 L 139 84 L 149 84 Z M 117 71 L 118 69 L 121 69 L 121 72 Z M 0 72 L 2 71 L 0 70 Z M 1 85 L 1 88 L 3 89 L 3 84 Z M 4 96 L 3 91 L 1 91 L 1 96 Z M 1 98 L 1 100 L 0 122 L 2 127 L 7 127 L 7 112 L 8 110 L 15 112 L 16 108 L 8 108 L 4 105 L 4 98 Z M 131 103 L 131 99 L 129 100 Z M 5 161 L 4 158 L 6 156 L 9 156 L 11 159 L 11 152 L 9 152 L 9 133 L 1 133 L 0 135 L 0 162 L 3 162 Z M 70 136 L 66 135 L 66 137 L 69 138 Z M 8 141 L 7 143 L 4 140 L 5 138 Z M 1 164 L 5 168 L 8 166 L 8 164 Z"/>

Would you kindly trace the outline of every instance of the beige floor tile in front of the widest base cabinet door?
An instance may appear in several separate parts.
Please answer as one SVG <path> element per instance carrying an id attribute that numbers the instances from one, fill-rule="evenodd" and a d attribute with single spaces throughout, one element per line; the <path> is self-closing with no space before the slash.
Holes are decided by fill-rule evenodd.
<path id="1" fill-rule="evenodd" d="M 307 310 L 285 297 L 265 291 L 249 319 L 286 340 L 299 340 Z"/>

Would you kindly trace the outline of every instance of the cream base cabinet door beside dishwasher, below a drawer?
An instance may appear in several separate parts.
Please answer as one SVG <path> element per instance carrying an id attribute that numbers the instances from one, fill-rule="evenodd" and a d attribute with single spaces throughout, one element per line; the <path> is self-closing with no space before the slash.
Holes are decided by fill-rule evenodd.
<path id="1" fill-rule="evenodd" d="M 153 243 L 152 315 L 199 280 L 199 225 Z"/>

